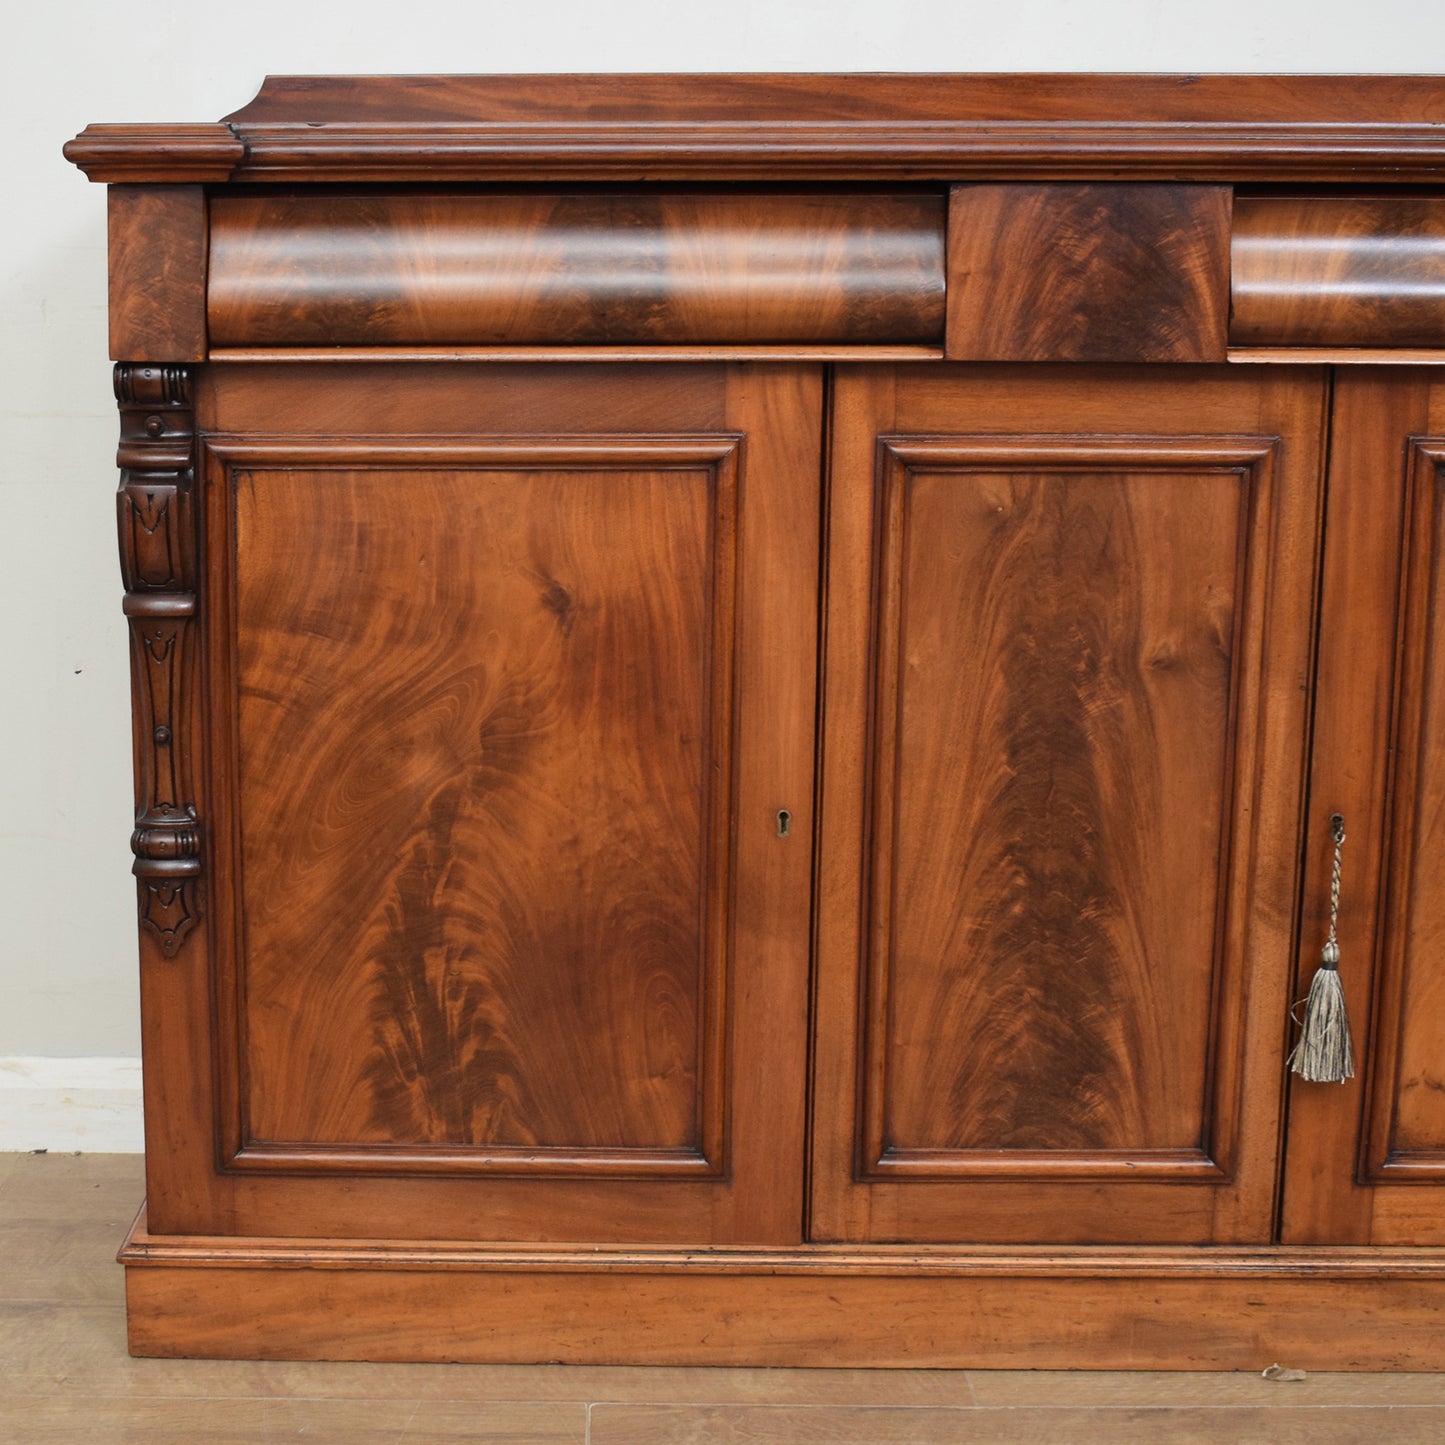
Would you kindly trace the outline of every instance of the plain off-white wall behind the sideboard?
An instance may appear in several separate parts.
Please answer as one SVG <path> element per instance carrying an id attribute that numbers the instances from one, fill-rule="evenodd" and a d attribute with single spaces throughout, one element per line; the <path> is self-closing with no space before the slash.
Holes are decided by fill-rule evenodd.
<path id="1" fill-rule="evenodd" d="M 114 1114 L 126 1090 L 133 1098 L 134 1071 L 123 1061 L 139 1052 L 127 662 L 110 500 L 105 207 L 103 191 L 64 163 L 62 142 L 92 120 L 214 120 L 249 100 L 267 71 L 608 69 L 1441 74 L 1445 3 L 46 0 L 7 7 L 0 647 L 10 681 L 0 692 L 0 1149 L 107 1140 L 129 1147 L 134 1139 L 133 1121 L 108 1133 L 95 1123 Z M 92 1062 L 75 1065 L 71 1077 L 36 1065 L 36 1056 Z M 7 1088 L 7 1079 L 26 1085 Z M 68 1131 L 65 1110 L 79 1110 L 87 1090 L 104 1094 L 105 1107 Z M 48 1111 L 38 1114 L 40 1094 Z"/>

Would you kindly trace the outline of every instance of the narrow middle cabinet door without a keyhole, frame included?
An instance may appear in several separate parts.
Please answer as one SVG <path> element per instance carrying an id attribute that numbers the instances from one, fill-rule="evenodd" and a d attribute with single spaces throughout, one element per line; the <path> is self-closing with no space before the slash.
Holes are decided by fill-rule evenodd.
<path id="1" fill-rule="evenodd" d="M 814 1238 L 1270 1238 L 1324 397 L 840 381 Z"/>

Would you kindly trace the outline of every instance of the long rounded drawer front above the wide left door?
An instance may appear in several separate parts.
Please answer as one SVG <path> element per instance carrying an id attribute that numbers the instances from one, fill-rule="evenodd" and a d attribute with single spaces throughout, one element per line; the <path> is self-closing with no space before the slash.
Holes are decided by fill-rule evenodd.
<path id="1" fill-rule="evenodd" d="M 907 344 L 941 195 L 220 197 L 217 345 Z"/>

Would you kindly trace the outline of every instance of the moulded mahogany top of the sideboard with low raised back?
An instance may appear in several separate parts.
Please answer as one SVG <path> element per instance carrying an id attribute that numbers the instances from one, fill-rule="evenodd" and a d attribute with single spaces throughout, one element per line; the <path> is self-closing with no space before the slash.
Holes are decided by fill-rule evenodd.
<path id="1" fill-rule="evenodd" d="M 277 75 L 211 124 L 88 126 L 107 182 L 1445 178 L 1423 75 Z"/>

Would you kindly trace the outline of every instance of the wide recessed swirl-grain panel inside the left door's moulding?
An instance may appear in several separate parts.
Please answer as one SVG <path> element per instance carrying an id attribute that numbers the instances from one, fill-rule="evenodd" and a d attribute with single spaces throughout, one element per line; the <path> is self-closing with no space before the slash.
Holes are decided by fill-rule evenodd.
<path id="1" fill-rule="evenodd" d="M 231 480 L 243 1143 L 704 1155 L 718 468 Z"/>

